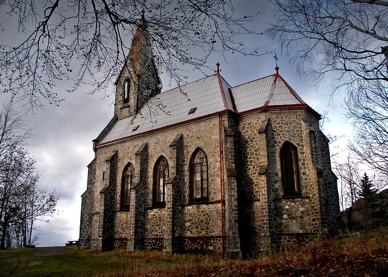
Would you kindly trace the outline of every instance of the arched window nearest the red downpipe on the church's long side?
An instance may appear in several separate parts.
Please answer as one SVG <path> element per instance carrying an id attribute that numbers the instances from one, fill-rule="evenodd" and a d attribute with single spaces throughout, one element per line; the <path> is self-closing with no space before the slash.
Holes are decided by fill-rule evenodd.
<path id="1" fill-rule="evenodd" d="M 190 159 L 190 200 L 208 200 L 207 158 L 205 152 L 198 148 Z"/>

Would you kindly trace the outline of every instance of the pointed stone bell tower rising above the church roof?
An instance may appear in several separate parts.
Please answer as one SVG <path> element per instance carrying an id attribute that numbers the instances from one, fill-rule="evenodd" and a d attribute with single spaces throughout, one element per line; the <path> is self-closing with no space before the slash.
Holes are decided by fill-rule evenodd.
<path id="1" fill-rule="evenodd" d="M 158 76 L 144 13 L 115 86 L 114 113 L 118 120 L 135 116 L 150 97 L 161 91 L 162 82 Z"/>

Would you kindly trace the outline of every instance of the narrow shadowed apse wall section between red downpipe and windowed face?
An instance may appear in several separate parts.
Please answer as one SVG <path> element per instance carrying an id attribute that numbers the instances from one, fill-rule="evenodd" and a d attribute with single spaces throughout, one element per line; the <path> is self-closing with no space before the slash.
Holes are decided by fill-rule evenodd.
<path id="1" fill-rule="evenodd" d="M 261 251 L 269 239 L 266 171 L 268 166 L 264 113 L 239 118 L 236 169 L 241 251 Z M 264 229 L 262 229 L 264 224 Z M 262 232 L 264 231 L 264 232 Z"/>

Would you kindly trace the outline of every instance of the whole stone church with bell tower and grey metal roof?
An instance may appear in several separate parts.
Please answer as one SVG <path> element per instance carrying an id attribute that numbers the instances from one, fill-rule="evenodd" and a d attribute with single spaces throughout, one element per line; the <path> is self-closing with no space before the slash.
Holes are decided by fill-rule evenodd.
<path id="1" fill-rule="evenodd" d="M 81 248 L 241 257 L 336 233 L 321 116 L 279 68 L 236 87 L 217 70 L 161 92 L 153 57 L 143 25 L 93 140 Z"/>

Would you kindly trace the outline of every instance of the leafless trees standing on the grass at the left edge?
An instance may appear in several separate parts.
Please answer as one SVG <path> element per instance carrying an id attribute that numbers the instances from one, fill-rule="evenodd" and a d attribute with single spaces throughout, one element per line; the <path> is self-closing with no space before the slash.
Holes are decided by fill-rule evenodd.
<path id="1" fill-rule="evenodd" d="M 36 220 L 55 212 L 58 197 L 39 183 L 35 160 L 25 149 L 28 131 L 12 104 L 0 111 L 0 249 L 26 246 Z"/>

